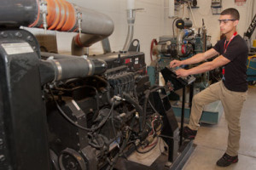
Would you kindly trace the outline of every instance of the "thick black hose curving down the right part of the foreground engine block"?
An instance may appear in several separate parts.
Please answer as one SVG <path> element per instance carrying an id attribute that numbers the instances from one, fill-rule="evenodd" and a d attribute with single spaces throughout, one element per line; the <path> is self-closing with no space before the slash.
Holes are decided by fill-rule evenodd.
<path id="1" fill-rule="evenodd" d="M 131 105 L 133 105 L 135 107 L 135 109 L 137 110 L 137 112 L 139 113 L 139 116 L 141 118 L 141 116 L 144 116 L 143 115 L 143 108 L 139 105 L 139 103 L 135 100 L 135 99 L 132 99 L 131 96 L 129 94 L 126 94 L 124 93 L 123 94 L 124 96 L 124 99 L 129 102 Z M 146 116 L 142 117 L 143 120 L 146 119 Z M 139 127 L 140 127 L 140 132 L 143 132 L 143 129 L 145 127 L 145 124 L 146 124 L 146 121 L 139 121 Z"/>

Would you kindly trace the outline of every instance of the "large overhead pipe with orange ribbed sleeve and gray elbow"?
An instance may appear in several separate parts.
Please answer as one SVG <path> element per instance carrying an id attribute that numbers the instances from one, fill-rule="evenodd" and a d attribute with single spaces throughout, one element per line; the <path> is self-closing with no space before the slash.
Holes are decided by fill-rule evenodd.
<path id="1" fill-rule="evenodd" d="M 1 0 L 0 26 L 28 26 L 55 31 L 79 31 L 72 54 L 113 33 L 113 20 L 66 0 Z M 73 51 L 76 50 L 76 51 Z"/>

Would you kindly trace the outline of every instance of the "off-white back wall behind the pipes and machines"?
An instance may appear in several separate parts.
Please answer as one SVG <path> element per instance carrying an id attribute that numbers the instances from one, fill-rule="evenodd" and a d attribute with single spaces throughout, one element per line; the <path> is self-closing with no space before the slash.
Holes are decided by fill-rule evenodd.
<path id="1" fill-rule="evenodd" d="M 102 14 L 107 14 L 112 18 L 114 23 L 113 34 L 109 37 L 110 45 L 113 51 L 119 51 L 125 44 L 127 34 L 126 20 L 126 0 L 68 0 L 84 8 L 91 8 Z M 237 27 L 238 33 L 243 35 L 247 30 L 253 14 L 256 11 L 256 2 L 254 9 L 252 7 L 254 0 L 247 0 L 247 3 L 241 7 L 235 5 L 234 0 L 223 0 L 224 8 L 237 8 L 241 14 L 241 20 Z M 197 0 L 200 8 L 193 8 L 192 12 L 195 16 L 197 26 L 201 26 L 202 18 L 205 21 L 208 35 L 212 36 L 212 44 L 218 41 L 219 15 L 212 15 L 211 0 Z M 172 35 L 172 20 L 167 17 L 168 0 L 135 0 L 135 8 L 144 8 L 136 14 L 134 37 L 140 41 L 141 51 L 145 53 L 146 63 L 150 63 L 149 49 L 150 42 L 153 38 L 160 36 Z M 192 14 L 188 8 L 185 8 L 184 16 L 192 20 Z M 183 16 L 183 10 L 176 11 L 175 14 Z M 195 26 L 195 25 L 194 25 Z M 71 39 L 73 33 L 57 32 L 58 49 L 60 53 L 70 53 Z M 255 33 L 253 38 L 255 38 Z M 90 47 L 90 54 L 102 54 L 102 44 L 97 42 Z"/>

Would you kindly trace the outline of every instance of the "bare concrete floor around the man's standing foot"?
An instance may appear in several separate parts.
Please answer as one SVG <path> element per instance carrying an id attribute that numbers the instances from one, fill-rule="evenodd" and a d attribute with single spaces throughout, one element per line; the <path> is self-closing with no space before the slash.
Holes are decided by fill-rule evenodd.
<path id="1" fill-rule="evenodd" d="M 230 167 L 217 167 L 227 145 L 227 123 L 222 114 L 217 125 L 202 125 L 195 138 L 197 144 L 183 170 L 256 169 L 256 87 L 249 88 L 247 101 L 241 112 L 241 141 L 239 161 Z"/>

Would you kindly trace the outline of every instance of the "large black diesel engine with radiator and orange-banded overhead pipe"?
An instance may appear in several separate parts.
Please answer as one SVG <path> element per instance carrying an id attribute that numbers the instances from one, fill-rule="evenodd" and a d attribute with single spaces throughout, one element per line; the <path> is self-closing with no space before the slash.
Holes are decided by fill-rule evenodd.
<path id="1" fill-rule="evenodd" d="M 150 85 L 139 46 L 84 54 L 113 32 L 108 16 L 64 0 L 4 0 L 0 9 L 0 169 L 183 167 L 193 142 L 179 135 L 170 88 Z M 79 31 L 72 54 L 49 50 L 26 26 Z"/>

